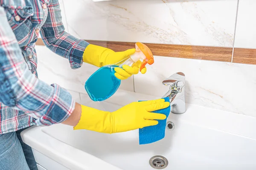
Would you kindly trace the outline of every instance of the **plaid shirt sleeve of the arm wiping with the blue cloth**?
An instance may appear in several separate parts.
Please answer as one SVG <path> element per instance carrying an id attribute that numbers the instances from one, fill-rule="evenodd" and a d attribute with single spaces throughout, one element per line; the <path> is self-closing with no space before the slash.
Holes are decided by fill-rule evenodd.
<path id="1" fill-rule="evenodd" d="M 29 71 L 15 34 L 0 6 L 0 102 L 34 117 L 37 125 L 66 120 L 75 108 L 72 96 L 47 85 Z"/>

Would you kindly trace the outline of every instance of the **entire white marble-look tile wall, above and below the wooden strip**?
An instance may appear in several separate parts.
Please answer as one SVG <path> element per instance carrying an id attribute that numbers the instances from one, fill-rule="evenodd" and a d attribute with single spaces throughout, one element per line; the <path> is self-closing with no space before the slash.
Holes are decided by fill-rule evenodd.
<path id="1" fill-rule="evenodd" d="M 67 31 L 86 40 L 233 47 L 237 4 L 238 0 L 61 0 L 61 10 Z M 239 0 L 235 47 L 256 48 L 250 19 L 254 6 L 254 0 Z M 36 49 L 39 78 L 69 89 L 83 104 L 89 102 L 84 82 L 97 68 L 84 64 L 72 70 L 67 59 L 45 46 Z M 121 89 L 161 97 L 168 88 L 163 79 L 180 71 L 186 75 L 186 102 L 256 116 L 256 65 L 156 56 L 145 75 L 123 81 Z"/>

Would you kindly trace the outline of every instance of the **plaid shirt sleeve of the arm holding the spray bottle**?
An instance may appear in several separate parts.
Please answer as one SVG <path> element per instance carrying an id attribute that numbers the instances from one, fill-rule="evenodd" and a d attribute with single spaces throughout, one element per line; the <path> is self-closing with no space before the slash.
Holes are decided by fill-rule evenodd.
<path id="1" fill-rule="evenodd" d="M 51 51 L 69 59 L 71 68 L 81 67 L 84 50 L 89 43 L 64 31 L 58 0 L 52 0 L 49 4 L 47 20 L 42 26 L 40 34 L 44 44 Z"/>

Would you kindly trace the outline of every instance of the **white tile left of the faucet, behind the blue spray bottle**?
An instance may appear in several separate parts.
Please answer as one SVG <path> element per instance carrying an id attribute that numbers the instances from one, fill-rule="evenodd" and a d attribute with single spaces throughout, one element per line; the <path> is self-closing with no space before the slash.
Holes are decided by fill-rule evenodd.
<path id="1" fill-rule="evenodd" d="M 58 56 L 47 47 L 38 45 L 36 46 L 36 51 L 39 79 L 48 84 L 57 83 L 66 89 L 87 93 L 84 89 L 84 84 L 90 75 L 98 69 L 97 67 L 83 63 L 81 68 L 73 70 L 70 68 L 67 59 Z M 119 88 L 134 91 L 133 78 L 123 80 Z"/>

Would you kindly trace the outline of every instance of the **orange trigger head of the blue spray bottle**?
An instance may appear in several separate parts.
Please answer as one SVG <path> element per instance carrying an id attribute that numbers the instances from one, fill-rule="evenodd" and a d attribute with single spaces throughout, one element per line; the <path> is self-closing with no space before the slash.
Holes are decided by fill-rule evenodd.
<path id="1" fill-rule="evenodd" d="M 145 59 L 143 59 L 143 62 L 140 65 L 140 71 L 145 67 L 146 64 L 153 64 L 154 63 L 154 57 L 151 52 L 151 50 L 148 48 L 147 45 L 141 43 L 141 42 L 136 42 L 136 45 L 138 48 L 140 48 L 140 51 L 143 52 L 145 55 Z"/>

